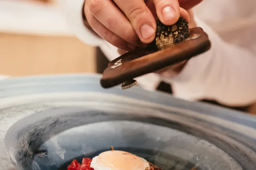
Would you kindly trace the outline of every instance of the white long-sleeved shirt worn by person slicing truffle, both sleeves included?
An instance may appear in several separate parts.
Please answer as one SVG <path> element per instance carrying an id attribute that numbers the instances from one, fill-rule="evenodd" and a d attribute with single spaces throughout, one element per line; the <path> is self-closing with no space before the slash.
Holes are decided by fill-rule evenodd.
<path id="1" fill-rule="evenodd" d="M 84 0 L 58 0 L 67 23 L 84 43 L 99 46 L 109 60 L 119 57 L 117 48 L 94 36 L 82 21 Z M 208 34 L 211 49 L 189 60 L 181 73 L 171 78 L 148 74 L 139 84 L 154 90 L 171 83 L 174 96 L 185 100 L 210 99 L 229 106 L 256 101 L 256 1 L 204 0 L 194 10 L 195 22 Z"/>

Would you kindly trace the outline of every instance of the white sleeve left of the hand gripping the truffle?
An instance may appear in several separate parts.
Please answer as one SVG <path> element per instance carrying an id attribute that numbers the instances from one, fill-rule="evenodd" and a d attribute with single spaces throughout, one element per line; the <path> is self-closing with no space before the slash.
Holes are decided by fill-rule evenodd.
<path id="1" fill-rule="evenodd" d="M 56 0 L 61 12 L 65 15 L 71 31 L 87 45 L 100 46 L 103 39 L 95 36 L 83 23 L 82 7 L 84 0 Z"/>

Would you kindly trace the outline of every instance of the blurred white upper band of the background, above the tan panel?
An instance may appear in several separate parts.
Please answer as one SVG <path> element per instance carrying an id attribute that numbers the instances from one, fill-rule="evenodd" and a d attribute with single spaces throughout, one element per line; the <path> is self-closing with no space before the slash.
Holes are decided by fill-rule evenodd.
<path id="1" fill-rule="evenodd" d="M 54 5 L 27 0 L 0 0 L 0 32 L 72 36 Z"/>

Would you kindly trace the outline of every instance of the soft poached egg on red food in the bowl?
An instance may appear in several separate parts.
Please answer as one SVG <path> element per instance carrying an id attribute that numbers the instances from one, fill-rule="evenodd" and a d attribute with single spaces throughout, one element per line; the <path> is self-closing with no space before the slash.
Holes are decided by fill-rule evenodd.
<path id="1" fill-rule="evenodd" d="M 94 157 L 91 162 L 94 170 L 150 170 L 145 159 L 124 151 L 106 151 Z"/>

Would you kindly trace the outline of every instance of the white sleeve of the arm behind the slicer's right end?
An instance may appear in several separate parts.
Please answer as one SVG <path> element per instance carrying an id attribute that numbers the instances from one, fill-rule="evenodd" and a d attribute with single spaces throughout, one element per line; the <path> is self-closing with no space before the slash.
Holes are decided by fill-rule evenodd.
<path id="1" fill-rule="evenodd" d="M 195 18 L 211 41 L 209 51 L 193 57 L 174 78 L 164 73 L 174 96 L 185 100 L 217 100 L 228 106 L 243 106 L 256 100 L 256 55 L 222 40 Z"/>

